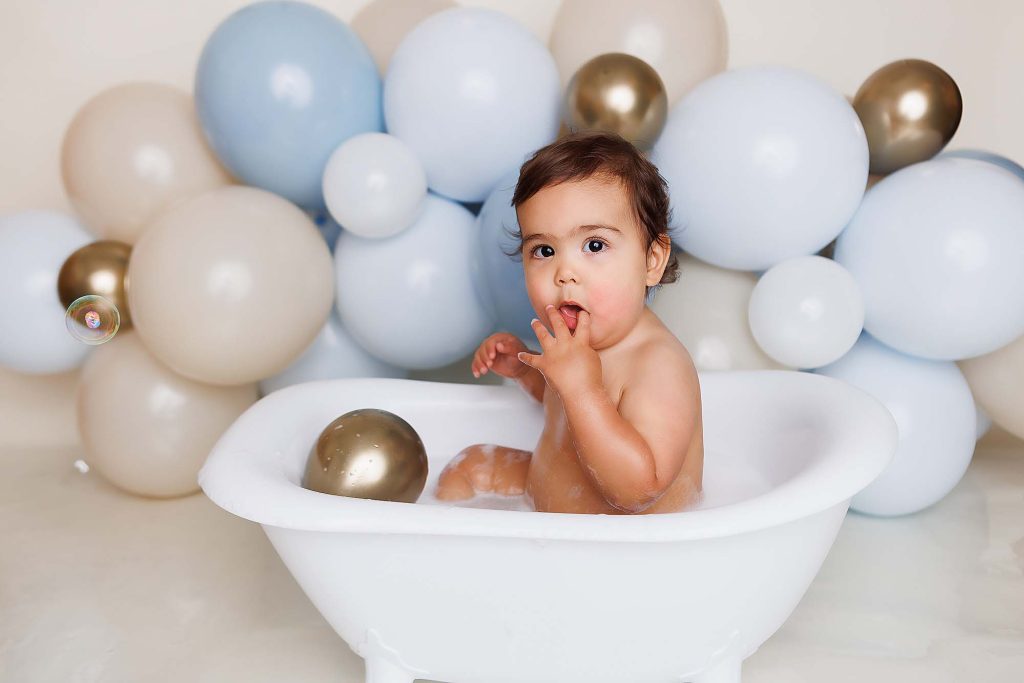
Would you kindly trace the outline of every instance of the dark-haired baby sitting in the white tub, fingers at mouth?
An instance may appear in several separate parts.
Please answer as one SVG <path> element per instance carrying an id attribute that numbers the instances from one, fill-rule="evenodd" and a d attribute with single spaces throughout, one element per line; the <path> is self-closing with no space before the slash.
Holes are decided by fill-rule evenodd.
<path id="1" fill-rule="evenodd" d="M 473 375 L 514 378 L 544 404 L 534 452 L 476 443 L 441 472 L 444 501 L 525 494 L 542 512 L 676 512 L 696 503 L 703 425 L 696 369 L 645 305 L 677 280 L 668 185 L 618 135 L 572 133 L 523 164 L 519 221 L 534 353 L 492 335 Z"/>

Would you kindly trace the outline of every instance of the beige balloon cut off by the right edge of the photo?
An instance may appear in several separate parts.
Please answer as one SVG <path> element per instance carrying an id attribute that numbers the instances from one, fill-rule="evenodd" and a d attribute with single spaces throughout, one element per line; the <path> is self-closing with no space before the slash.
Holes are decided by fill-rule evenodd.
<path id="1" fill-rule="evenodd" d="M 956 365 L 981 410 L 992 422 L 1024 438 L 1024 337 Z"/>

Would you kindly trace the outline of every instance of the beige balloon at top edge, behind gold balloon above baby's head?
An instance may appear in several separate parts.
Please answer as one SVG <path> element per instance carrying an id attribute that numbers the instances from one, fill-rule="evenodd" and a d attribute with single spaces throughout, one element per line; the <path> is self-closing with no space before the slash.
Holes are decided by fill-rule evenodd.
<path id="1" fill-rule="evenodd" d="M 562 89 L 599 54 L 626 52 L 653 67 L 669 106 L 725 70 L 725 14 L 718 0 L 564 0 L 549 41 Z"/>

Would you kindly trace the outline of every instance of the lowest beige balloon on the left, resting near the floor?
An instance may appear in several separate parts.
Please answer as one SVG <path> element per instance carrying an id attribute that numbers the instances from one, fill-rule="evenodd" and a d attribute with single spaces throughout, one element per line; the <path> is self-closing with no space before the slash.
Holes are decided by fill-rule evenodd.
<path id="1" fill-rule="evenodd" d="M 76 408 L 85 461 L 138 496 L 194 494 L 210 450 L 257 395 L 255 384 L 217 387 L 181 377 L 137 334 L 121 332 L 82 370 Z"/>

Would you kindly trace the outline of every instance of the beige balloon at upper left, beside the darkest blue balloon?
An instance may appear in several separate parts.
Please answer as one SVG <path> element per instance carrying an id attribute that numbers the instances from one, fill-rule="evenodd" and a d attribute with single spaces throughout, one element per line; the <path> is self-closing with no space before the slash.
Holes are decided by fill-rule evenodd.
<path id="1" fill-rule="evenodd" d="M 86 102 L 65 133 L 60 170 L 83 221 L 127 244 L 171 204 L 232 182 L 191 95 L 160 83 L 120 85 Z"/>

